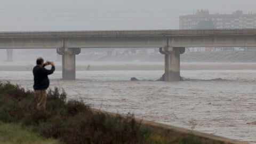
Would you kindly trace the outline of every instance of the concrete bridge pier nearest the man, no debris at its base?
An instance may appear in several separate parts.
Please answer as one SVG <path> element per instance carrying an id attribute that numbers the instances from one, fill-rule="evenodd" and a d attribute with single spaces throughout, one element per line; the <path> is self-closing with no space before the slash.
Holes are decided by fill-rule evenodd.
<path id="1" fill-rule="evenodd" d="M 62 79 L 76 79 L 76 54 L 81 52 L 80 48 L 59 48 L 57 53 L 62 55 Z"/>

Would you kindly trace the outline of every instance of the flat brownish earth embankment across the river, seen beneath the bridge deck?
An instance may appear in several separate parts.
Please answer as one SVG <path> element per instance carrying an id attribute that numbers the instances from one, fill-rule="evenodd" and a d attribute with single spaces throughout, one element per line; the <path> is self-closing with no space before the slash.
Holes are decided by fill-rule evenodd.
<path id="1" fill-rule="evenodd" d="M 33 66 L 0 66 L 0 71 L 31 71 Z M 255 70 L 256 63 L 187 63 L 182 62 L 181 70 Z M 56 70 L 62 70 L 56 66 Z M 76 70 L 88 70 L 87 66 L 77 65 Z M 158 65 L 91 65 L 89 70 L 164 70 L 164 62 Z"/>

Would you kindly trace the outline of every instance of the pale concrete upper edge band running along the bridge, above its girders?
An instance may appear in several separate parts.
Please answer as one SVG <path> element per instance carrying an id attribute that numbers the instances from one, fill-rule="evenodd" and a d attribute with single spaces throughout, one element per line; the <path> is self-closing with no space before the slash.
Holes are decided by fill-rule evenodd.
<path id="1" fill-rule="evenodd" d="M 256 29 L 204 30 L 107 30 L 107 31 L 15 31 L 0 32 L 0 38 L 28 37 L 174 37 L 174 36 L 256 35 Z"/>

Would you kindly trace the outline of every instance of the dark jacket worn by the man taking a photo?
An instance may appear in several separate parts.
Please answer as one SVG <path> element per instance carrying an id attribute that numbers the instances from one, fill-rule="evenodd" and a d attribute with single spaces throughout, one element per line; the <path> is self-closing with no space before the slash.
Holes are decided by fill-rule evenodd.
<path id="1" fill-rule="evenodd" d="M 35 66 L 33 68 L 34 75 L 34 90 L 46 90 L 49 87 L 50 81 L 48 75 L 51 75 L 55 70 L 55 67 L 52 66 L 51 70 L 46 68 Z"/>

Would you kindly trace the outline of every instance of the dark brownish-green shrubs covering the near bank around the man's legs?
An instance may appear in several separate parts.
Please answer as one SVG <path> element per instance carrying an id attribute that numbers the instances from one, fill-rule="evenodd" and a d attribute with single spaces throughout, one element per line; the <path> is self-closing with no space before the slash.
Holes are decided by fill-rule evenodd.
<path id="1" fill-rule="evenodd" d="M 33 91 L 0 82 L 0 121 L 33 127 L 37 137 L 40 134 L 63 143 L 187 143 L 151 133 L 131 114 L 110 116 L 93 111 L 82 101 L 67 101 L 66 96 L 57 88 L 48 91 L 46 110 L 37 111 Z"/>

